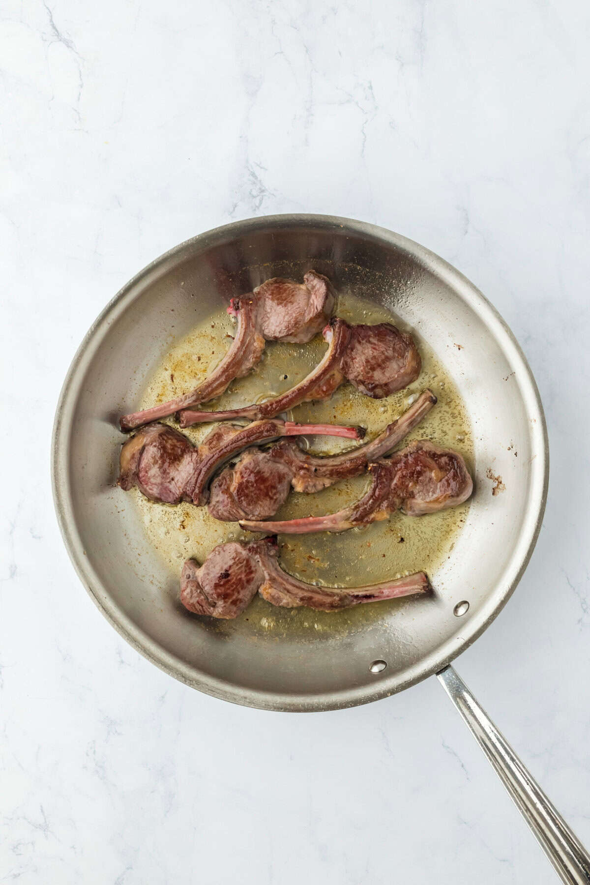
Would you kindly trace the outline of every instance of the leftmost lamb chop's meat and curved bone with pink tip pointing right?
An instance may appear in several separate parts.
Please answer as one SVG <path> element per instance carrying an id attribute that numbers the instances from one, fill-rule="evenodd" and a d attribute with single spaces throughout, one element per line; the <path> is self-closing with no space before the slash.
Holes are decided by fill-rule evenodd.
<path id="1" fill-rule="evenodd" d="M 279 419 L 255 421 L 247 427 L 225 424 L 211 430 L 197 449 L 180 431 L 155 422 L 142 427 L 123 445 L 119 486 L 128 490 L 136 485 L 143 495 L 163 504 L 206 504 L 211 476 L 228 459 L 257 443 L 303 434 L 357 439 L 364 431 Z"/>

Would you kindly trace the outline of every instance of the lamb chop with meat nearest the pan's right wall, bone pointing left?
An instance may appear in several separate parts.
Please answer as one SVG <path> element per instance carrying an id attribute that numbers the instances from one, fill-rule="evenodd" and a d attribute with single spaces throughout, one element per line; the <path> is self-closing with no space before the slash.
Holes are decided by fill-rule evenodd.
<path id="1" fill-rule="evenodd" d="M 371 487 L 365 495 L 344 510 L 326 516 L 304 519 L 261 521 L 241 519 L 250 532 L 307 535 L 311 532 L 345 532 L 387 519 L 396 510 L 408 516 L 422 516 L 463 504 L 471 495 L 473 482 L 464 459 L 456 452 L 422 440 L 380 458 L 369 465 Z"/>

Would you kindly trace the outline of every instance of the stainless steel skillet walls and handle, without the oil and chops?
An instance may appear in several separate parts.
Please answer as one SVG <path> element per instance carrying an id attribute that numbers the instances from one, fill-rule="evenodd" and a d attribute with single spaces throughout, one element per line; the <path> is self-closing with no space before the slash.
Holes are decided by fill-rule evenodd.
<path id="1" fill-rule="evenodd" d="M 434 597 L 388 609 L 366 630 L 303 643 L 299 635 L 261 638 L 243 623 L 223 631 L 187 617 L 178 575 L 112 484 L 115 419 L 137 403 L 172 341 L 231 296 L 310 266 L 337 289 L 390 307 L 437 352 L 469 411 L 477 490 L 451 556 L 431 575 Z M 590 882 L 585 850 L 449 666 L 515 589 L 548 483 L 530 369 L 502 318 L 453 267 L 383 228 L 319 215 L 239 221 L 182 243 L 130 281 L 82 342 L 57 407 L 52 470 L 81 581 L 127 642 L 166 673 L 237 704 L 281 711 L 365 704 L 437 673 L 563 881 Z M 492 496 L 488 470 L 502 477 L 501 495 Z"/>

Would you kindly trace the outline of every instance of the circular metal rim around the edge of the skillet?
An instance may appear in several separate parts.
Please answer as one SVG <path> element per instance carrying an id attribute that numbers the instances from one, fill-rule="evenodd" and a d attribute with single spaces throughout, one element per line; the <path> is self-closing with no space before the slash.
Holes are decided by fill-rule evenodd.
<path id="1" fill-rule="evenodd" d="M 85 369 L 91 359 L 94 358 L 97 350 L 99 350 L 103 336 L 111 326 L 111 323 L 117 319 L 121 312 L 126 310 L 127 304 L 132 303 L 136 297 L 141 296 L 142 287 L 149 280 L 149 277 L 163 272 L 165 266 L 174 263 L 175 259 L 184 251 L 195 250 L 195 247 L 207 248 L 212 243 L 226 240 L 232 235 L 243 235 L 269 226 L 288 228 L 309 227 L 310 225 L 328 228 L 340 227 L 349 230 L 351 233 L 369 235 L 373 240 L 380 240 L 388 245 L 401 247 L 409 251 L 421 264 L 448 281 L 449 285 L 469 304 L 471 309 L 479 313 L 487 327 L 491 327 L 492 334 L 500 339 L 502 348 L 510 351 L 510 362 L 517 371 L 521 389 L 523 385 L 528 387 L 528 390 L 523 390 L 523 396 L 529 419 L 534 419 L 532 430 L 533 451 L 537 457 L 537 478 L 532 482 L 531 489 L 531 496 L 534 498 L 532 510 L 529 509 L 527 518 L 521 526 L 517 550 L 510 557 L 510 561 L 505 569 L 505 573 L 509 578 L 507 586 L 503 589 L 501 596 L 498 596 L 497 593 L 490 595 L 487 604 L 479 612 L 479 617 L 470 620 L 469 628 L 462 631 L 465 634 L 461 637 L 462 641 L 456 643 L 453 637 L 448 639 L 446 643 L 442 644 L 440 649 L 433 650 L 429 655 L 420 660 L 419 665 L 413 666 L 408 678 L 402 682 L 399 681 L 399 677 L 385 677 L 379 678 L 379 681 L 375 682 L 372 687 L 362 686 L 355 689 L 341 689 L 339 691 L 314 695 L 306 695 L 304 693 L 271 693 L 257 689 L 244 689 L 237 683 L 217 680 L 211 677 L 209 673 L 198 672 L 195 667 L 188 666 L 180 658 L 176 658 L 171 652 L 166 651 L 159 643 L 151 639 L 141 627 L 138 627 L 114 603 L 108 590 L 103 586 L 103 582 L 100 581 L 88 558 L 86 558 L 80 534 L 77 531 L 73 518 L 69 477 L 69 448 L 72 433 L 71 416 L 80 392 L 80 382 L 84 378 Z M 502 319 L 494 305 L 490 304 L 487 297 L 463 273 L 456 270 L 444 258 L 441 258 L 419 243 L 396 234 L 385 227 L 379 227 L 357 219 L 308 213 L 264 215 L 215 227 L 205 231 L 203 234 L 181 242 L 171 250 L 166 251 L 159 258 L 150 262 L 139 273 L 136 273 L 106 304 L 80 343 L 60 392 L 51 440 L 51 484 L 57 522 L 64 539 L 65 548 L 80 581 L 103 613 L 103 616 L 111 623 L 111 626 L 117 630 L 127 643 L 139 651 L 144 658 L 147 658 L 165 673 L 184 682 L 191 688 L 234 704 L 278 712 L 320 712 L 370 703 L 403 689 L 410 688 L 411 685 L 417 684 L 419 681 L 448 666 L 451 661 L 455 660 L 464 650 L 469 648 L 479 638 L 479 635 L 489 627 L 516 589 L 533 554 L 539 536 L 548 494 L 548 433 L 539 390 L 537 389 L 533 373 L 510 327 Z M 493 604 L 490 604 L 490 599 L 493 599 Z"/>

